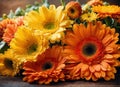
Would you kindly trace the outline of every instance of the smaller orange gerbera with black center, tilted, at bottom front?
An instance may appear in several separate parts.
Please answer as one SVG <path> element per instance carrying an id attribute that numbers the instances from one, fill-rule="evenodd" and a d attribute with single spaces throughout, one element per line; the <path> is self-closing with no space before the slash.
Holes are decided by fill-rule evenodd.
<path id="1" fill-rule="evenodd" d="M 23 65 L 24 81 L 29 83 L 49 84 L 50 82 L 64 81 L 63 69 L 65 59 L 62 57 L 63 48 L 53 46 L 37 57 L 36 62 L 27 61 Z"/>

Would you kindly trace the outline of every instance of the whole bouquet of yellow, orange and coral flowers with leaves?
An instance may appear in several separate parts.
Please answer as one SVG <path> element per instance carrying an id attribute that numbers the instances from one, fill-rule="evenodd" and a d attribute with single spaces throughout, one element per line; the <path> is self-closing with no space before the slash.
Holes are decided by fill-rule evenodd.
<path id="1" fill-rule="evenodd" d="M 43 0 L 0 21 L 0 75 L 38 84 L 115 79 L 120 67 L 120 7 Z"/>

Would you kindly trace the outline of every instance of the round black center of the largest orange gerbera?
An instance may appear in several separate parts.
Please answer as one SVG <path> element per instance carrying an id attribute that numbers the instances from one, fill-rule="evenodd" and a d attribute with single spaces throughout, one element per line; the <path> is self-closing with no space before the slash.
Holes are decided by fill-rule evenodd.
<path id="1" fill-rule="evenodd" d="M 82 48 L 82 52 L 86 56 L 94 55 L 96 50 L 97 50 L 96 46 L 92 43 L 85 44 Z"/>

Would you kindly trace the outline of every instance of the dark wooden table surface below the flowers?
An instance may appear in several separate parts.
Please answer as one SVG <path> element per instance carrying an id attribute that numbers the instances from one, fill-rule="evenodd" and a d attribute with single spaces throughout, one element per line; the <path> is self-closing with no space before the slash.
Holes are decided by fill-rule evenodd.
<path id="1" fill-rule="evenodd" d="M 97 82 L 78 80 L 52 83 L 50 85 L 29 84 L 23 82 L 21 77 L 3 77 L 0 76 L 0 87 L 120 87 L 120 72 L 116 74 L 115 80 Z"/>

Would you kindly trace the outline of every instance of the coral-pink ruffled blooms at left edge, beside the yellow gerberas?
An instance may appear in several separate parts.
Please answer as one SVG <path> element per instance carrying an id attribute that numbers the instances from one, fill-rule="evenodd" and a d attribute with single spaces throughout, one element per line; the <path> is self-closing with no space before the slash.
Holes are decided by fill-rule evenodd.
<path id="1" fill-rule="evenodd" d="M 14 37 L 15 32 L 17 31 L 17 27 L 23 24 L 23 17 L 19 17 L 16 19 L 6 19 L 0 23 L 0 30 L 2 30 L 2 39 L 8 44 Z"/>

